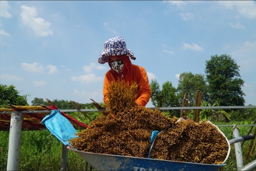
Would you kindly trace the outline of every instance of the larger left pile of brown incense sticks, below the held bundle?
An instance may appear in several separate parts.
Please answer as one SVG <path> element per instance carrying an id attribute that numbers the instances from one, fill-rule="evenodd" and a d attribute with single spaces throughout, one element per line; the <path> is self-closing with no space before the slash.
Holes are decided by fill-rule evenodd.
<path id="1" fill-rule="evenodd" d="M 70 140 L 79 151 L 114 154 L 122 156 L 146 157 L 153 130 L 163 130 L 174 124 L 159 110 L 133 107 L 118 112 L 114 117 L 97 118 L 87 129 Z"/>

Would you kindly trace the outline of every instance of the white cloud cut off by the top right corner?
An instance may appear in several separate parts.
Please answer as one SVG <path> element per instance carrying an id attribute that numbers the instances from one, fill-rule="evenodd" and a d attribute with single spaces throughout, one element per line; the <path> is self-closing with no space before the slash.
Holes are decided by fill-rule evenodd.
<path id="1" fill-rule="evenodd" d="M 255 1 L 218 1 L 219 5 L 224 6 L 227 9 L 234 9 L 239 14 L 244 15 L 247 18 L 256 18 L 256 3 Z"/>

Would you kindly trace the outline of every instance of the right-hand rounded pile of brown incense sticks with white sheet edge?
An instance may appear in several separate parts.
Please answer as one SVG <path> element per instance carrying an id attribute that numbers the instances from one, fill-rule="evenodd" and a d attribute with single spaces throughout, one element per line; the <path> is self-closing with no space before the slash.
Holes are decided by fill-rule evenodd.
<path id="1" fill-rule="evenodd" d="M 218 127 L 208 122 L 181 121 L 160 132 L 150 158 L 192 163 L 221 164 L 229 144 Z"/>

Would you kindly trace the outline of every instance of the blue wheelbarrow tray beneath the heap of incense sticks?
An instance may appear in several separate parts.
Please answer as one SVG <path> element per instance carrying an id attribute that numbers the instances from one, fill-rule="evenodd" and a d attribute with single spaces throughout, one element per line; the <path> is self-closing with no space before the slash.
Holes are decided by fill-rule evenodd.
<path id="1" fill-rule="evenodd" d="M 75 151 L 75 153 L 81 156 L 94 169 L 105 171 L 217 171 L 219 167 L 226 165 L 178 162 L 171 160 L 90 153 L 75 150 L 71 146 L 68 146 L 67 148 Z"/>

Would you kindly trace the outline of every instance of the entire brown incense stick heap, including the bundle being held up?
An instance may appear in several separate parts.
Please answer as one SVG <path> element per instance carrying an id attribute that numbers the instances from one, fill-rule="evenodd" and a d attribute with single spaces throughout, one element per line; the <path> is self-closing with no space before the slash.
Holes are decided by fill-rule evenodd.
<path id="1" fill-rule="evenodd" d="M 150 158 L 208 164 L 226 159 L 229 144 L 212 123 L 177 122 L 178 118 L 170 119 L 160 110 L 134 107 L 136 83 L 111 82 L 107 88 L 110 115 L 91 121 L 77 134 L 79 138 L 70 140 L 77 150 L 146 158 L 152 131 L 163 130 L 155 139 Z"/>

